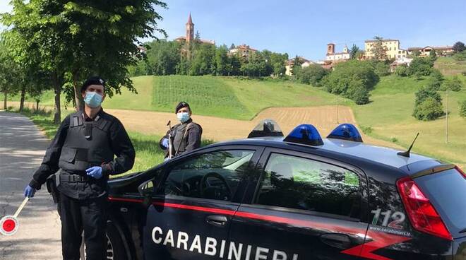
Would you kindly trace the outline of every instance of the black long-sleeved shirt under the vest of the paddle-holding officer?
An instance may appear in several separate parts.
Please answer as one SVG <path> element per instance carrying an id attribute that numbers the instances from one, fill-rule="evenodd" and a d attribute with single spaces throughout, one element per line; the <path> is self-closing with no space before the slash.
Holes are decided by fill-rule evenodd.
<path id="1" fill-rule="evenodd" d="M 100 117 L 103 114 L 101 109 L 96 117 Z M 92 121 L 94 119 L 90 118 L 83 114 L 83 119 L 85 121 Z M 58 131 L 52 143 L 47 148 L 39 169 L 32 176 L 30 186 L 35 189 L 40 189 L 42 184 L 46 181 L 47 177 L 54 174 L 59 170 L 59 159 L 61 154 L 61 148 L 64 146 L 66 140 L 66 134 L 70 126 L 70 115 L 68 115 L 63 122 L 61 122 Z M 134 164 L 134 158 L 136 153 L 133 148 L 133 143 L 129 139 L 126 130 L 124 129 L 123 124 L 115 118 L 112 117 L 112 125 L 109 127 L 109 145 L 112 148 L 114 155 L 117 155 L 114 160 L 107 162 L 102 166 L 102 178 L 100 181 L 107 181 L 109 175 L 117 175 L 128 170 L 131 170 Z M 94 180 L 92 180 L 94 181 Z M 97 180 L 98 181 L 98 180 Z M 59 190 L 64 192 L 67 196 L 71 196 L 74 199 L 86 199 L 89 197 L 102 196 L 105 194 L 92 194 L 90 190 L 90 185 L 88 182 L 68 182 L 61 183 Z"/>

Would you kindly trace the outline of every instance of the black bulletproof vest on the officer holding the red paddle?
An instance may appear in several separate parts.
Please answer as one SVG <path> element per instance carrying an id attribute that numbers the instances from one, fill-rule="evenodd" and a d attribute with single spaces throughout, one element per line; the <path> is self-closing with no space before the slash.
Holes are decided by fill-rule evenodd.
<path id="1" fill-rule="evenodd" d="M 111 120 L 104 112 L 87 122 L 84 121 L 83 112 L 71 114 L 59 167 L 66 172 L 82 173 L 89 167 L 113 160 L 109 137 Z"/>

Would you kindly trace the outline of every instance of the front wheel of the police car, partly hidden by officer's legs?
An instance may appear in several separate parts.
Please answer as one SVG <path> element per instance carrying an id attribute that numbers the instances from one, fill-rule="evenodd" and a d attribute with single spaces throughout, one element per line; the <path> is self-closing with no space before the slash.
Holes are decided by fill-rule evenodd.
<path id="1" fill-rule="evenodd" d="M 107 260 L 129 260 L 126 252 L 125 245 L 121 239 L 120 233 L 117 230 L 117 227 L 111 221 L 107 221 L 107 230 L 105 233 L 105 240 L 107 242 Z M 80 259 L 85 260 L 85 244 L 84 236 L 83 242 L 81 242 L 80 248 Z"/>

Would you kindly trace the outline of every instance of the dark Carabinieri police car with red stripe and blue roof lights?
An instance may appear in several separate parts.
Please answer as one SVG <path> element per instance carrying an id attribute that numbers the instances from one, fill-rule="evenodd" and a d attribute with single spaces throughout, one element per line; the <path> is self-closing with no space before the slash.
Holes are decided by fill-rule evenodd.
<path id="1" fill-rule="evenodd" d="M 110 181 L 109 259 L 466 259 L 459 167 L 263 126 Z"/>

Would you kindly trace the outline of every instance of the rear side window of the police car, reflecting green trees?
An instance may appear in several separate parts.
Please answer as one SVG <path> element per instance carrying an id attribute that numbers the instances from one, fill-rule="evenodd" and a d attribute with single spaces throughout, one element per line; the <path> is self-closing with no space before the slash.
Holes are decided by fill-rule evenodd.
<path id="1" fill-rule="evenodd" d="M 345 168 L 272 153 L 256 203 L 353 216 L 359 213 L 359 186 L 358 175 Z"/>

